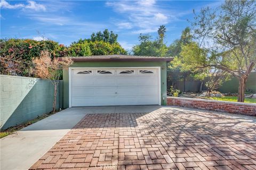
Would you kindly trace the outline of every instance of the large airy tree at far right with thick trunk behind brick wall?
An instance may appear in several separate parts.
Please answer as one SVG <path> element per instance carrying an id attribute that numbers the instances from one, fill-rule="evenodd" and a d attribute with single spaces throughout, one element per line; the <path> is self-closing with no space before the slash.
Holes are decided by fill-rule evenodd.
<path id="1" fill-rule="evenodd" d="M 197 67 L 215 67 L 239 80 L 238 100 L 244 102 L 245 83 L 256 62 L 256 2 L 226 1 L 220 8 L 202 8 L 192 22 L 205 61 L 190 58 Z"/>

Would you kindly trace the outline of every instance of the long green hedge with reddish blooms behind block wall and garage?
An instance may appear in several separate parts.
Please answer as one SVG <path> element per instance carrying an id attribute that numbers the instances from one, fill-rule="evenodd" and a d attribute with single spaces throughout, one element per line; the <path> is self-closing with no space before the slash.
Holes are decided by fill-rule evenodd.
<path id="1" fill-rule="evenodd" d="M 51 57 L 79 57 L 90 55 L 127 54 L 119 43 L 83 40 L 64 46 L 52 40 L 36 41 L 31 39 L 1 39 L 0 74 L 35 77 L 31 72 L 32 59 L 39 57 L 43 50 Z"/>

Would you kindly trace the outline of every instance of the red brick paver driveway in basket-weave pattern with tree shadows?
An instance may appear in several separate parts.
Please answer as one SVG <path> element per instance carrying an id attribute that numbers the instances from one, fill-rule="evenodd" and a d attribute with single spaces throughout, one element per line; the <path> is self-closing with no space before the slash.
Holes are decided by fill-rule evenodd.
<path id="1" fill-rule="evenodd" d="M 254 118 L 165 107 L 89 114 L 31 169 L 256 169 Z"/>

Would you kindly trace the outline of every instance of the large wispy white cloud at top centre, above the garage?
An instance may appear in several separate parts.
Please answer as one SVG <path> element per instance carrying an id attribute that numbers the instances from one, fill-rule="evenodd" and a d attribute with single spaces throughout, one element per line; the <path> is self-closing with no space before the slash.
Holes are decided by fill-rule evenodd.
<path id="1" fill-rule="evenodd" d="M 173 15 L 169 15 L 170 11 L 167 14 L 167 11 L 153 0 L 115 1 L 107 2 L 106 5 L 124 16 L 125 20 L 116 23 L 118 28 L 137 28 L 132 33 L 156 32 L 159 25 L 167 24 L 170 18 L 173 18 Z"/>

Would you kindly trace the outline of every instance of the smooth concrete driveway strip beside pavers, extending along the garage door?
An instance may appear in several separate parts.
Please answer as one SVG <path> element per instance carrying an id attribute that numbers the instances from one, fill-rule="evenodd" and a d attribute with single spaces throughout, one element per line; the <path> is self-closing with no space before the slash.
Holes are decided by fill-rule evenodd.
<path id="1" fill-rule="evenodd" d="M 74 107 L 65 109 L 0 140 L 0 169 L 28 169 L 86 114 L 151 112 L 160 106 Z"/>

